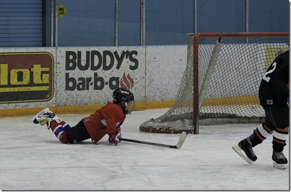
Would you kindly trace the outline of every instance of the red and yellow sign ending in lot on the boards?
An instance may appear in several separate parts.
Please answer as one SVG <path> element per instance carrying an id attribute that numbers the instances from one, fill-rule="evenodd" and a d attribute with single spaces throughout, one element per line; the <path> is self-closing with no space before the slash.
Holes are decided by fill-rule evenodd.
<path id="1" fill-rule="evenodd" d="M 0 103 L 49 101 L 53 94 L 50 53 L 0 53 Z"/>

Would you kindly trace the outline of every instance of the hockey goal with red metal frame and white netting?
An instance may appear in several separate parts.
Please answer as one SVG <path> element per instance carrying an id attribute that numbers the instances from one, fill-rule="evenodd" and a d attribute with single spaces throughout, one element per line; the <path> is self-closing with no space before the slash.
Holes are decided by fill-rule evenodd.
<path id="1" fill-rule="evenodd" d="M 262 123 L 261 78 L 289 49 L 289 33 L 187 34 L 187 65 L 174 105 L 140 130 L 199 134 L 199 125 Z"/>

